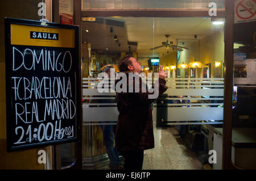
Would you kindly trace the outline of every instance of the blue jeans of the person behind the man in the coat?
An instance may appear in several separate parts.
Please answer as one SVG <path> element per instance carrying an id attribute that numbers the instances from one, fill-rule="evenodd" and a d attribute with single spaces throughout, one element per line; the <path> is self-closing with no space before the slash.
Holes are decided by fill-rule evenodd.
<path id="1" fill-rule="evenodd" d="M 114 148 L 114 125 L 101 125 L 104 136 L 106 151 L 110 160 L 110 169 L 116 169 L 118 166 L 118 151 Z"/>

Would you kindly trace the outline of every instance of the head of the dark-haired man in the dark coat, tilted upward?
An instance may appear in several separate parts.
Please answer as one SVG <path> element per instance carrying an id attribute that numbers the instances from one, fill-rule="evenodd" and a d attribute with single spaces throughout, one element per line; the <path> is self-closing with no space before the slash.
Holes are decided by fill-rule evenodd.
<path id="1" fill-rule="evenodd" d="M 141 63 L 136 60 L 133 56 L 125 56 L 123 57 L 118 64 L 118 69 L 123 71 L 130 71 L 133 73 L 142 73 Z"/>

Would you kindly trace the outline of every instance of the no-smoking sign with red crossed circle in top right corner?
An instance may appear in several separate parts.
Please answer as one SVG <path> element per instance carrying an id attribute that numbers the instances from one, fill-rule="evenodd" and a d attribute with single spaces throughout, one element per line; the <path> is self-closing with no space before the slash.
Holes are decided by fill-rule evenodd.
<path id="1" fill-rule="evenodd" d="M 256 20 L 256 0 L 236 0 L 234 23 L 253 22 Z"/>

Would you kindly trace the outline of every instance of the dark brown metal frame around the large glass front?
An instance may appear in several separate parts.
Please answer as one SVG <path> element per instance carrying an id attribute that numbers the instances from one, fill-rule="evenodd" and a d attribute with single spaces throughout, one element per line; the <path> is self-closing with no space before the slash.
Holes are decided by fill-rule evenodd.
<path id="1" fill-rule="evenodd" d="M 54 1 L 54 0 L 53 0 Z M 169 18 L 211 18 L 208 10 L 81 10 L 81 1 L 74 1 L 74 24 L 81 27 L 82 17 L 169 17 Z M 231 160 L 232 140 L 232 94 L 233 92 L 233 27 L 234 27 L 234 0 L 225 1 L 225 10 L 217 10 L 216 18 L 226 18 L 224 30 L 224 124 L 223 124 L 223 168 L 238 169 Z M 81 28 L 80 28 L 81 35 Z M 81 49 L 81 36 L 80 36 Z M 81 57 L 81 50 L 80 55 Z M 79 124 L 81 130 L 81 123 Z M 81 133 L 80 133 L 81 134 Z M 81 138 L 81 137 L 80 137 Z M 77 142 L 76 169 L 82 167 L 82 142 Z"/>

